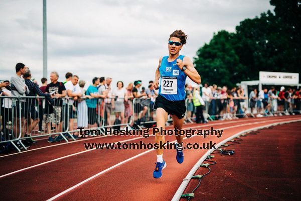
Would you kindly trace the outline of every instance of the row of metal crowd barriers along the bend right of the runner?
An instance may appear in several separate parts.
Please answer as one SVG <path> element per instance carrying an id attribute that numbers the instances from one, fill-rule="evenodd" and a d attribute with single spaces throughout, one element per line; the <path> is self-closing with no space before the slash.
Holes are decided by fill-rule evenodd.
<path id="1" fill-rule="evenodd" d="M 194 122 L 196 119 L 196 108 L 193 105 L 193 98 L 186 99 L 186 121 Z M 280 105 L 280 107 L 278 107 Z M 256 100 L 253 108 L 246 98 L 226 98 L 211 99 L 205 101 L 203 116 L 207 120 L 231 120 L 237 118 L 263 117 L 263 116 L 282 116 L 301 113 L 301 99 L 290 98 L 288 100 L 268 99 Z M 194 120 L 194 121 L 193 121 Z"/>

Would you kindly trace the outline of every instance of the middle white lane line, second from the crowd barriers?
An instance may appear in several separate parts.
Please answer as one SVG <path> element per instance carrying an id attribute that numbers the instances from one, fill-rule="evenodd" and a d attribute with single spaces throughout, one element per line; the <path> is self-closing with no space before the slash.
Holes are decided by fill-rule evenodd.
<path id="1" fill-rule="evenodd" d="M 291 118 L 289 118 L 289 119 L 291 119 Z M 285 120 L 285 119 L 283 119 L 283 120 Z M 276 120 L 267 120 L 267 121 L 263 121 L 263 122 L 254 122 L 254 123 L 239 124 L 239 125 L 235 125 L 235 126 L 225 127 L 224 129 L 241 127 L 241 126 L 246 126 L 246 125 L 253 125 L 253 124 L 260 124 L 260 123 L 264 123 L 264 122 L 273 122 L 273 121 L 278 121 L 278 119 L 276 119 Z M 200 128 L 200 127 L 204 127 L 204 125 L 191 127 L 191 129 Z M 220 128 L 220 129 L 223 129 L 223 128 Z M 195 135 L 195 136 L 197 136 L 197 135 Z M 192 137 L 195 137 L 195 136 L 192 136 Z M 105 137 L 105 136 L 101 136 L 101 137 Z M 150 136 L 150 137 L 152 137 L 152 136 Z M 144 138 L 144 137 L 141 136 L 141 137 L 136 137 L 136 138 L 130 138 L 130 139 L 127 139 L 127 140 L 117 141 L 117 142 L 113 142 L 113 143 L 118 143 L 118 142 L 123 143 L 123 142 L 128 142 L 128 141 L 131 141 L 131 140 L 141 139 L 141 138 Z M 186 138 L 183 138 L 183 139 L 186 139 Z M 110 144 L 112 144 L 112 143 L 110 143 Z M 42 162 L 42 163 L 39 163 L 39 164 L 36 164 L 36 165 L 25 167 L 25 168 L 22 168 L 22 169 L 19 169 L 19 170 L 16 170 L 16 171 L 13 171 L 13 172 L 10 172 L 10 173 L 7 173 L 7 174 L 3 174 L 3 175 L 0 176 L 0 178 L 6 177 L 6 176 L 9 176 L 9 175 L 12 175 L 12 174 L 24 171 L 24 170 L 28 170 L 28 169 L 31 169 L 31 168 L 34 168 L 34 167 L 45 165 L 45 164 L 48 164 L 48 163 L 51 163 L 51 162 L 55 162 L 55 161 L 58 161 L 58 160 L 61 160 L 61 159 L 65 159 L 65 158 L 68 158 L 68 157 L 71 157 L 71 156 L 75 156 L 75 155 L 78 155 L 78 154 L 82 154 L 82 153 L 86 153 L 86 152 L 89 152 L 89 151 L 93 151 L 93 150 L 96 150 L 96 148 L 88 149 L 88 150 L 84 150 L 84 151 L 80 151 L 80 152 L 76 152 L 76 153 L 69 154 L 69 155 L 66 155 L 66 156 L 62 156 L 62 157 L 59 157 L 59 158 L 56 158 L 56 159 L 53 159 L 53 160 L 49 160 L 49 161 Z"/>

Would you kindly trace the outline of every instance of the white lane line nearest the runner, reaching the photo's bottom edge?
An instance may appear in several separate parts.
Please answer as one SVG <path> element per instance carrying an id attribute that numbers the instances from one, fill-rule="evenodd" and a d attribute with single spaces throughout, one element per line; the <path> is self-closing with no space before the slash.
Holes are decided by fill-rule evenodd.
<path id="1" fill-rule="evenodd" d="M 283 120 L 284 120 L 284 119 L 283 119 Z M 274 121 L 278 121 L 278 120 L 274 120 Z M 266 123 L 266 122 L 272 122 L 272 121 L 270 120 L 270 121 L 262 121 L 262 122 L 258 122 L 258 123 L 248 123 L 248 124 L 242 124 L 242 125 L 229 126 L 229 127 L 220 128 L 220 129 L 230 129 L 230 128 L 235 128 L 235 127 L 241 127 L 241 126 L 253 125 L 253 124 L 261 124 L 261 123 Z M 192 137 L 195 137 L 195 136 L 197 136 L 197 135 L 194 135 L 194 136 L 192 136 Z M 192 137 L 191 137 L 191 138 L 192 138 Z M 187 137 L 183 138 L 183 140 L 185 140 L 185 139 L 187 139 Z M 176 142 L 176 140 L 175 140 L 175 141 L 172 141 L 172 142 L 170 142 L 170 143 L 174 143 L 174 142 Z M 113 166 L 111 166 L 111 167 L 109 167 L 109 168 L 107 168 L 107 169 L 105 169 L 105 170 L 102 170 L 101 172 L 99 172 L 99 173 L 97 173 L 97 174 L 95 174 L 95 175 L 93 175 L 93 176 L 91 176 L 91 177 L 89 177 L 89 178 L 87 178 L 87 179 L 81 181 L 80 183 L 78 183 L 78 184 L 76 184 L 76 185 L 74 185 L 74 186 L 72 186 L 72 187 L 70 187 L 70 188 L 64 190 L 63 192 L 60 192 L 59 194 L 57 194 L 57 195 L 55 195 L 55 196 L 49 198 L 47 201 L 54 200 L 54 199 L 60 197 L 61 195 L 66 194 L 67 192 L 69 192 L 69 191 L 71 191 L 71 190 L 77 188 L 78 186 L 80 186 L 80 185 L 82 185 L 82 184 L 84 184 L 84 183 L 90 181 L 91 179 L 93 179 L 93 178 L 95 178 L 95 177 L 97 177 L 97 176 L 99 176 L 99 175 L 101 175 L 101 174 L 103 174 L 103 173 L 105 173 L 105 172 L 107 172 L 107 171 L 109 171 L 109 170 L 115 168 L 115 167 L 118 167 L 118 166 L 120 166 L 121 164 L 124 164 L 125 162 L 128 162 L 128 161 L 130 161 L 130 160 L 133 160 L 133 159 L 135 159 L 135 158 L 137 158 L 137 157 L 139 157 L 139 156 L 142 156 L 142 155 L 144 155 L 144 154 L 146 154 L 146 153 L 148 153 L 148 152 L 150 152 L 150 151 L 154 151 L 154 150 L 155 150 L 155 149 L 150 149 L 150 150 L 144 151 L 144 152 L 142 152 L 142 153 L 140 153 L 140 154 L 137 154 L 137 155 L 135 155 L 135 156 L 133 156 L 133 157 L 131 157 L 131 158 L 128 158 L 128 159 L 126 159 L 126 160 L 124 160 L 124 161 L 121 161 L 121 162 L 119 162 L 119 163 L 117 163 L 117 164 L 115 164 L 115 165 L 113 165 Z"/>

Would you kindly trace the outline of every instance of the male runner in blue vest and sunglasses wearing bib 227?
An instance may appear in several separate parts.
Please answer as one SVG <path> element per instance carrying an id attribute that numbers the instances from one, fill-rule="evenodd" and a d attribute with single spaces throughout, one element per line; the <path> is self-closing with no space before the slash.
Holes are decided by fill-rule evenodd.
<path id="1" fill-rule="evenodd" d="M 168 115 L 172 116 L 174 128 L 182 129 L 184 116 L 186 112 L 185 106 L 185 81 L 188 76 L 194 82 L 200 84 L 201 77 L 194 68 L 193 63 L 187 56 L 180 55 L 179 52 L 183 45 L 186 44 L 187 35 L 182 30 L 176 30 L 170 35 L 168 42 L 169 56 L 161 57 L 159 65 L 156 69 L 154 86 L 159 88 L 159 96 L 156 98 L 154 109 L 157 111 L 157 127 L 165 129 L 165 123 Z M 160 78 L 160 80 L 159 80 Z M 160 82 L 160 86 L 159 86 Z M 158 87 L 159 86 L 159 87 Z M 184 161 L 182 147 L 183 137 L 176 135 L 178 142 L 177 156 L 178 163 Z M 165 143 L 165 137 L 156 134 L 155 142 Z M 154 170 L 154 178 L 162 176 L 162 169 L 166 167 L 163 160 L 163 149 L 157 149 L 157 164 Z"/>

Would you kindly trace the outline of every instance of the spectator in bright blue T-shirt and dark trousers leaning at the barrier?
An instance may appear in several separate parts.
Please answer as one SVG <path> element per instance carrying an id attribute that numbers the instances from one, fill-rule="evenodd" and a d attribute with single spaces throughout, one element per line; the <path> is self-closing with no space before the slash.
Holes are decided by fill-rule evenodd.
<path id="1" fill-rule="evenodd" d="M 87 107 L 88 107 L 88 124 L 89 128 L 93 127 L 93 125 L 97 121 L 97 112 L 96 112 L 96 106 L 98 98 L 104 97 L 104 95 L 99 94 L 97 85 L 99 84 L 99 78 L 94 77 L 92 79 L 92 85 L 90 85 L 86 91 L 86 95 L 90 95 L 92 99 L 87 99 Z"/>

